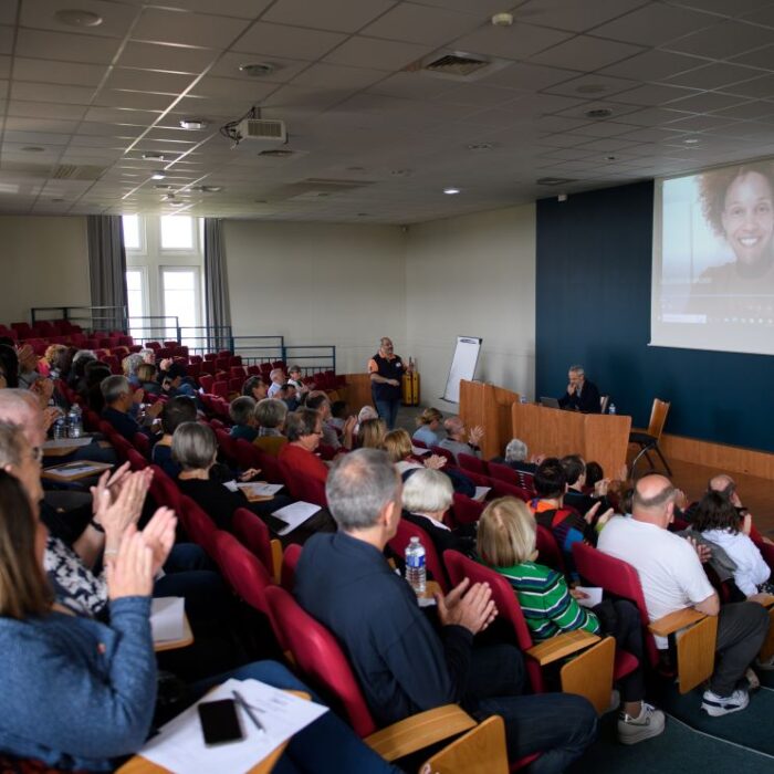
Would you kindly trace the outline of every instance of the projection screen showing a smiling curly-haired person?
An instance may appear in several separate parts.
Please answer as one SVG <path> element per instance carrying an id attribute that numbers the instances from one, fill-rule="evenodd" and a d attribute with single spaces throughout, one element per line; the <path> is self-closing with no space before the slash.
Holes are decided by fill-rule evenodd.
<path id="1" fill-rule="evenodd" d="M 774 354 L 774 160 L 656 180 L 650 344 Z"/>

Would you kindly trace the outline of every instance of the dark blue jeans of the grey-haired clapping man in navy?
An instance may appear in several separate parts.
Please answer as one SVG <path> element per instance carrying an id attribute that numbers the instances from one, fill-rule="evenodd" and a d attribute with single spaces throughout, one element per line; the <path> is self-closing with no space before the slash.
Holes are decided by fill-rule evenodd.
<path id="1" fill-rule="evenodd" d="M 583 697 L 571 693 L 520 695 L 524 686 L 521 651 L 510 645 L 477 648 L 462 705 L 483 720 L 505 721 L 508 757 L 541 756 L 530 774 L 558 774 L 580 757 L 597 733 L 597 713 Z"/>

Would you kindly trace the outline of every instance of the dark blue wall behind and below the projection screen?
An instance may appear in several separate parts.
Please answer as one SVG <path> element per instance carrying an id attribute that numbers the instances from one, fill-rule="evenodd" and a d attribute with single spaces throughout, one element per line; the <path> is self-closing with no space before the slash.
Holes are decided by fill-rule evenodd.
<path id="1" fill-rule="evenodd" d="M 774 358 L 649 347 L 653 185 L 537 202 L 536 394 L 582 364 L 619 414 L 667 432 L 774 451 Z"/>

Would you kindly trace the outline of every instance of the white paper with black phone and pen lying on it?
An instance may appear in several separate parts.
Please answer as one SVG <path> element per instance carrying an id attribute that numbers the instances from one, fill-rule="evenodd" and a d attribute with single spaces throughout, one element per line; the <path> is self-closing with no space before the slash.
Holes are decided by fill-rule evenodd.
<path id="1" fill-rule="evenodd" d="M 227 680 L 201 701 L 231 699 L 233 690 L 244 697 L 265 731 L 259 731 L 248 713 L 238 705 L 244 739 L 208 747 L 195 704 L 164 725 L 139 754 L 176 774 L 247 772 L 294 733 L 327 712 L 326 707 L 304 701 L 258 680 Z"/>

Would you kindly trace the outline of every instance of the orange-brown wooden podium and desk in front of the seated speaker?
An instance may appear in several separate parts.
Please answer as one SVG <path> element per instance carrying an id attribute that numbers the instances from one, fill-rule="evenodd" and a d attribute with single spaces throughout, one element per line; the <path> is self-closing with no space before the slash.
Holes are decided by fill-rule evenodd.
<path id="1" fill-rule="evenodd" d="M 530 454 L 580 454 L 587 462 L 598 462 L 608 478 L 618 478 L 626 463 L 631 417 L 522 404 L 517 393 L 464 380 L 460 381 L 460 416 L 468 427 L 483 427 L 484 459 L 502 454 L 512 438 L 521 438 Z"/>

